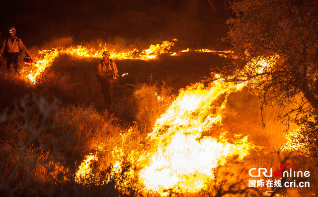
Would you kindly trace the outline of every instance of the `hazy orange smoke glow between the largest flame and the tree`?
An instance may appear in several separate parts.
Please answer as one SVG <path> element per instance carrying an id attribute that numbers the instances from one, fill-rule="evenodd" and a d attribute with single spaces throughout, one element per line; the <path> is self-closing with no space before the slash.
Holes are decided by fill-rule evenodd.
<path id="1" fill-rule="evenodd" d="M 285 113 L 284 108 L 268 106 L 261 111 L 260 107 L 258 96 L 246 91 L 232 93 L 225 111 L 224 127 L 232 133 L 249 135 L 249 140 L 265 147 L 267 153 L 279 151 L 286 142 L 287 126 L 279 118 Z M 295 128 L 291 126 L 289 130 Z"/>

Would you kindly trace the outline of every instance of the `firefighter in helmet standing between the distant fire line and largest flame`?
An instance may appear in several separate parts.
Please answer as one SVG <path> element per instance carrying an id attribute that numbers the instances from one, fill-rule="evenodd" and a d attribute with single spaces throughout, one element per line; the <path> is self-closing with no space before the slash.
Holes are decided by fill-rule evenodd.
<path id="1" fill-rule="evenodd" d="M 97 66 L 97 77 L 101 85 L 101 93 L 104 96 L 106 107 L 112 107 L 113 83 L 116 80 L 118 70 L 114 61 L 109 58 L 109 51 L 104 51 L 102 60 Z"/>

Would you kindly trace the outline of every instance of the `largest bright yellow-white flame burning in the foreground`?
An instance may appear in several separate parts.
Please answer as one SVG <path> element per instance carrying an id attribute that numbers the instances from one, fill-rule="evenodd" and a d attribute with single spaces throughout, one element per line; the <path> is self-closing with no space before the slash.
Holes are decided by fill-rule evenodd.
<path id="1" fill-rule="evenodd" d="M 234 143 L 228 142 L 226 132 L 219 139 L 201 137 L 204 131 L 221 123 L 221 110 L 227 99 L 219 106 L 211 103 L 240 89 L 241 86 L 216 82 L 208 88 L 198 83 L 180 92 L 148 136 L 155 147 L 146 154 L 149 162 L 139 173 L 148 191 L 162 196 L 171 189 L 196 193 L 214 178 L 214 168 L 224 165 L 231 156 L 237 155 L 241 161 L 249 154 L 254 145 L 247 136 L 236 136 Z"/>

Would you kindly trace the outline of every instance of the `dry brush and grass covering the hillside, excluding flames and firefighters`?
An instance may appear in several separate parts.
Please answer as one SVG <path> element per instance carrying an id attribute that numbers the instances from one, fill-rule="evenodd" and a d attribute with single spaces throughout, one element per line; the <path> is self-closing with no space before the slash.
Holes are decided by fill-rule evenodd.
<path id="1" fill-rule="evenodd" d="M 103 40 L 96 38 L 84 45 L 98 50 L 99 42 Z M 72 37 L 55 37 L 29 51 L 34 57 L 40 49 L 72 45 Z M 137 179 L 121 185 L 125 172 L 138 168 L 129 155 L 137 157 L 147 149 L 147 134 L 178 90 L 209 76 L 212 68 L 223 66 L 223 61 L 217 55 L 200 53 L 163 55 L 151 61 L 115 60 L 119 74 L 129 73 L 114 85 L 115 113 L 103 107 L 96 77 L 98 61 L 62 55 L 34 86 L 0 69 L 0 196 L 156 196 L 143 192 Z M 281 109 L 266 110 L 267 125 L 263 127 L 264 119 L 255 107 L 259 106 L 256 96 L 231 94 L 228 105 L 223 125 L 204 135 L 217 136 L 224 129 L 249 135 L 263 148 L 253 151 L 244 164 L 230 158 L 226 166 L 215 169 L 216 178 L 196 195 L 262 196 L 262 189 L 248 188 L 246 166 L 278 168 L 286 158 L 278 154 L 285 142 L 285 127 L 273 118 Z M 99 146 L 103 149 L 96 150 Z M 114 154 L 114 147 L 124 153 Z M 96 176 L 85 177 L 82 181 L 86 184 L 79 184 L 74 180 L 75 172 L 90 153 L 99 156 L 91 164 Z M 289 159 L 296 164 L 297 158 Z M 117 174 L 110 170 L 115 161 L 123 166 Z M 297 166 L 301 165 L 311 167 L 298 161 Z M 172 190 L 170 195 L 179 196 Z"/>

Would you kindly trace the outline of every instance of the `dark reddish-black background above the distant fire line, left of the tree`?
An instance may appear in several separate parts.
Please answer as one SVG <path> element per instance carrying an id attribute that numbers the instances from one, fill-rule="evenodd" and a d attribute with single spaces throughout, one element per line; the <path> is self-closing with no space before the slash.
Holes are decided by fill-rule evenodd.
<path id="1" fill-rule="evenodd" d="M 189 47 L 221 47 L 229 3 L 211 0 L 1 0 L 0 31 L 11 26 L 25 45 L 71 35 L 77 43 L 100 37 L 126 44 L 177 38 Z"/>

